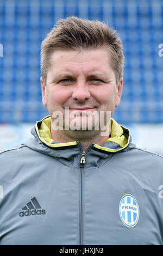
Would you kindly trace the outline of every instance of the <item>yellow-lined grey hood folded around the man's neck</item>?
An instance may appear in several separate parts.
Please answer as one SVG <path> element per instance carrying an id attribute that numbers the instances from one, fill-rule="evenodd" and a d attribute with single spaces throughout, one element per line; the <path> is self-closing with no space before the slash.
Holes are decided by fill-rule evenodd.
<path id="1" fill-rule="evenodd" d="M 36 122 L 35 127 L 31 130 L 34 138 L 28 139 L 23 145 L 36 151 L 41 151 L 44 154 L 49 154 L 49 150 L 54 152 L 56 150 L 77 148 L 79 146 L 80 142 L 77 141 L 66 143 L 57 143 L 53 141 L 50 128 L 51 117 L 48 115 Z M 92 144 L 91 147 L 96 151 L 110 154 L 130 150 L 135 148 L 135 144 L 131 143 L 130 131 L 126 127 L 117 124 L 117 122 L 111 118 L 110 138 L 103 144 L 103 146 Z"/>

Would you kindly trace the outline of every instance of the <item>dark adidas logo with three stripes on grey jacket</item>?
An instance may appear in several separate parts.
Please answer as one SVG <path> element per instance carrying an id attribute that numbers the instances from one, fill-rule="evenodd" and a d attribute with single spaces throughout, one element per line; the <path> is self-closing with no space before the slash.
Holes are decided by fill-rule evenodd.
<path id="1" fill-rule="evenodd" d="M 22 208 L 23 211 L 19 213 L 20 217 L 46 214 L 45 210 L 41 210 L 42 208 L 35 197 L 32 198 L 31 201 L 32 202 L 27 203 L 27 206 Z"/>

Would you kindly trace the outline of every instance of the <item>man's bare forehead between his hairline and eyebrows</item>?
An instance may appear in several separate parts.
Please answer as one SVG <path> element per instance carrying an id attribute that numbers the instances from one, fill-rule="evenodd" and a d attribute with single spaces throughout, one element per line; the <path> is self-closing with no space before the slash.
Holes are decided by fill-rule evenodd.
<path id="1" fill-rule="evenodd" d="M 109 72 L 111 58 L 106 48 L 94 50 L 59 50 L 51 56 L 49 71 L 52 72 Z"/>

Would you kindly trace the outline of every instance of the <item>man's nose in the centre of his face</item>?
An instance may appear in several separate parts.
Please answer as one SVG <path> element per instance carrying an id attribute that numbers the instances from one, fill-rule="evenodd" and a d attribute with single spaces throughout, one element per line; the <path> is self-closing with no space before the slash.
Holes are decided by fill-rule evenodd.
<path id="1" fill-rule="evenodd" d="M 77 82 L 74 86 L 74 90 L 72 93 L 73 100 L 78 100 L 83 102 L 85 100 L 90 99 L 91 93 L 89 89 L 89 85 L 84 81 Z"/>

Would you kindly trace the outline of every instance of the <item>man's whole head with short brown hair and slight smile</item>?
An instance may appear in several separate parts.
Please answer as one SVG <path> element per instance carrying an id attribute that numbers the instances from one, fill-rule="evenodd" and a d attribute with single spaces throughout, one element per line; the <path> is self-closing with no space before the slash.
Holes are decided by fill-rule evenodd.
<path id="1" fill-rule="evenodd" d="M 65 107 L 70 108 L 69 123 L 74 120 L 73 111 L 81 115 L 96 111 L 100 118 L 102 112 L 112 114 L 120 103 L 122 43 L 116 32 L 102 22 L 77 17 L 60 20 L 42 42 L 41 69 L 42 102 L 51 120 L 57 111 L 65 117 Z M 82 125 L 84 121 L 78 117 L 76 123 Z M 86 140 L 98 136 L 98 123 L 97 116 L 93 116 L 93 132 L 88 127 L 87 132 L 64 129 L 61 137 Z"/>

